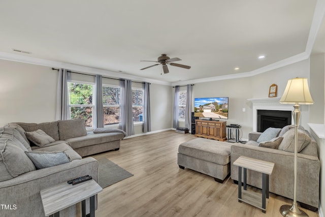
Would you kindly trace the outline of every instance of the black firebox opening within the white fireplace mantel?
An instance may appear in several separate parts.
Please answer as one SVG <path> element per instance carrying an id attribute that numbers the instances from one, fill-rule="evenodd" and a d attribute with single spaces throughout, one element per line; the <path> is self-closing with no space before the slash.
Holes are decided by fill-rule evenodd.
<path id="1" fill-rule="evenodd" d="M 257 110 L 257 132 L 291 125 L 291 111 Z"/>

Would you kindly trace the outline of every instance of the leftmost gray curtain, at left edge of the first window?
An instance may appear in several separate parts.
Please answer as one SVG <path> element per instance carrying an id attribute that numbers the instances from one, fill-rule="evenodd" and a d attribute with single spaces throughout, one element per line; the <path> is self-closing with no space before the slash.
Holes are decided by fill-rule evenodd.
<path id="1" fill-rule="evenodd" d="M 68 81 L 71 81 L 71 73 L 66 69 L 59 69 L 56 87 L 56 120 L 70 119 Z"/>

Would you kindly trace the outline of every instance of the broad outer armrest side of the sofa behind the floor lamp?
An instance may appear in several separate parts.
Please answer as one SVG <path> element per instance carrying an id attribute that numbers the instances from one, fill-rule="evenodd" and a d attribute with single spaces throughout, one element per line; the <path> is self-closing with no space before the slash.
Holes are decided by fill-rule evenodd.
<path id="1" fill-rule="evenodd" d="M 231 178 L 238 180 L 238 167 L 233 165 L 240 156 L 273 162 L 274 169 L 270 175 L 270 192 L 293 198 L 294 153 L 245 145 L 233 144 L 231 151 Z M 298 153 L 297 200 L 318 207 L 320 162 L 316 156 Z M 262 188 L 261 173 L 247 170 L 247 183 Z"/>

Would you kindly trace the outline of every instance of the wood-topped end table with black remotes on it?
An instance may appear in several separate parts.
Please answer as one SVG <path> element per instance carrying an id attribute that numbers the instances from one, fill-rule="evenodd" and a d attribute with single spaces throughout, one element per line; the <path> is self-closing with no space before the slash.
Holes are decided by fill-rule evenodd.
<path id="1" fill-rule="evenodd" d="M 86 199 L 90 198 L 90 216 L 95 216 L 95 196 L 103 191 L 93 179 L 79 184 L 67 182 L 41 191 L 45 216 L 58 217 L 59 211 L 81 201 L 82 216 L 86 216 Z"/>

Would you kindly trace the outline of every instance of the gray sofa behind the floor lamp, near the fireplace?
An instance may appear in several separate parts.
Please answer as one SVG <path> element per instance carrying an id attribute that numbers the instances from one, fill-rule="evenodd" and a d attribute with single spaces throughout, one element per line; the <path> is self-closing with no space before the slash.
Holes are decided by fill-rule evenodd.
<path id="1" fill-rule="evenodd" d="M 270 192 L 293 199 L 294 196 L 294 126 L 281 129 L 280 143 L 273 148 L 258 146 L 262 133 L 252 132 L 246 144 L 235 143 L 231 147 L 231 178 L 238 181 L 238 167 L 233 163 L 240 156 L 275 163 L 270 175 Z M 305 208 L 317 210 L 319 203 L 320 162 L 317 143 L 302 127 L 298 134 L 297 201 Z M 275 139 L 273 139 L 275 140 Z M 271 143 L 270 143 L 271 144 Z M 272 146 L 272 145 L 271 145 Z M 247 183 L 262 189 L 261 173 L 247 170 Z"/>

